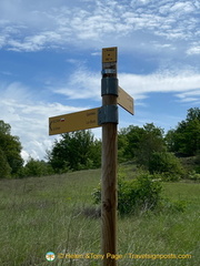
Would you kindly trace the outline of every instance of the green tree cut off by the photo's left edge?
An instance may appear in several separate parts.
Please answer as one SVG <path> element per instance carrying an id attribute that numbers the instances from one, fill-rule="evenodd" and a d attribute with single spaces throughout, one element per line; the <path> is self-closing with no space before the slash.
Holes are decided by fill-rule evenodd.
<path id="1" fill-rule="evenodd" d="M 11 135 L 11 126 L 3 121 L 0 121 L 0 149 L 11 168 L 11 174 L 17 175 L 23 165 L 22 146 L 19 137 Z"/>

